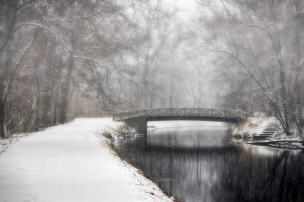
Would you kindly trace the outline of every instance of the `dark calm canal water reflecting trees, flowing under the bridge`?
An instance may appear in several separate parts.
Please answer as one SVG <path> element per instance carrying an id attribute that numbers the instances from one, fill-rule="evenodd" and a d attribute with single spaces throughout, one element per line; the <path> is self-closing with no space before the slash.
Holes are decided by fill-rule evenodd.
<path id="1" fill-rule="evenodd" d="M 304 201 L 304 153 L 231 144 L 225 127 L 115 141 L 121 157 L 184 201 Z"/>

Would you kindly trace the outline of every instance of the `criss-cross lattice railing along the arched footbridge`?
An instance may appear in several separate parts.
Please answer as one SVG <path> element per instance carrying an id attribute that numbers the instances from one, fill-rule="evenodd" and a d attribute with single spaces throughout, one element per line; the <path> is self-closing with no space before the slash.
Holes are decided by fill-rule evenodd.
<path id="1" fill-rule="evenodd" d="M 217 117 L 239 117 L 246 118 L 246 113 L 241 110 L 213 109 L 213 108 L 147 108 L 136 109 L 113 114 L 113 120 L 123 120 L 136 116 L 217 116 Z"/>

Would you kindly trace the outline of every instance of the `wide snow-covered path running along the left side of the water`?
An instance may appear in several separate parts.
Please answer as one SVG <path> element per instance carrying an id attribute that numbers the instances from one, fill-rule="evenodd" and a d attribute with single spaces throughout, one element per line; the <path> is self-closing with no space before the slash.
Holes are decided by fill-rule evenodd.
<path id="1" fill-rule="evenodd" d="M 100 144 L 96 129 L 115 124 L 78 118 L 13 144 L 0 155 L 0 201 L 171 201 Z"/>

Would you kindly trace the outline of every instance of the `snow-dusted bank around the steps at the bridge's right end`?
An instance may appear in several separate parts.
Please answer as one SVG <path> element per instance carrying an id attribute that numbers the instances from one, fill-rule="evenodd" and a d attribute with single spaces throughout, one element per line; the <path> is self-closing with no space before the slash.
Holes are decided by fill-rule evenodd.
<path id="1" fill-rule="evenodd" d="M 281 127 L 279 127 L 274 134 L 270 135 L 267 140 L 254 141 L 255 135 L 262 134 L 265 127 L 275 122 L 275 117 L 250 117 L 242 124 L 232 126 L 228 132 L 232 141 L 237 143 L 249 143 L 280 148 L 304 148 L 298 134 L 293 133 L 287 136 Z"/>

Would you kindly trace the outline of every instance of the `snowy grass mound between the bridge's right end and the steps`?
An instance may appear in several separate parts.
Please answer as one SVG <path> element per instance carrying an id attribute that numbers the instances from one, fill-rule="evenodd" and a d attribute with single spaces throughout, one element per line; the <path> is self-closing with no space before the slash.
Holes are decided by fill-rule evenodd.
<path id="1" fill-rule="evenodd" d="M 231 127 L 229 131 L 233 137 L 252 138 L 261 134 L 263 129 L 273 122 L 276 122 L 275 117 L 250 117 L 241 125 Z"/>

